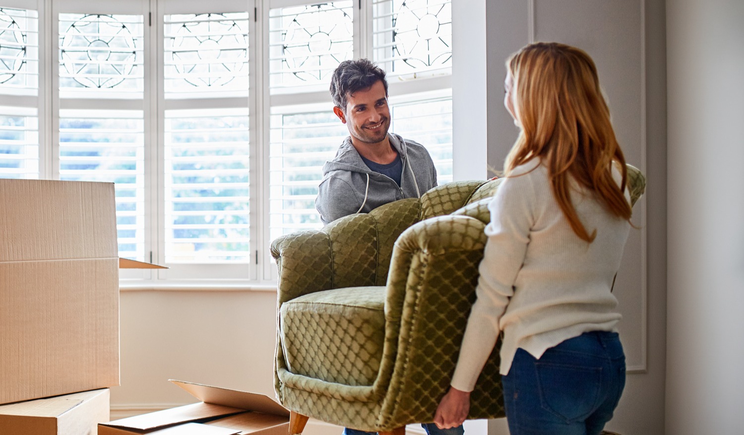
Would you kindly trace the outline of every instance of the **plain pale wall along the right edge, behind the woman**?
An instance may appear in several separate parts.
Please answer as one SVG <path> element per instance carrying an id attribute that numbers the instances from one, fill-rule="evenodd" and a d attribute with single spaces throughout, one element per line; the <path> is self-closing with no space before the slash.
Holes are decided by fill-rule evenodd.
<path id="1" fill-rule="evenodd" d="M 744 431 L 744 1 L 667 1 L 667 432 Z"/>

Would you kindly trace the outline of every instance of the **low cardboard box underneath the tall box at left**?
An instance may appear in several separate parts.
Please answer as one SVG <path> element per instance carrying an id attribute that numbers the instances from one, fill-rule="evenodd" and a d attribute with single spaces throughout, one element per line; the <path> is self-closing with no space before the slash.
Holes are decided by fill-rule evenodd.
<path id="1" fill-rule="evenodd" d="M 3 435 L 95 435 L 108 420 L 108 388 L 0 405 Z"/>

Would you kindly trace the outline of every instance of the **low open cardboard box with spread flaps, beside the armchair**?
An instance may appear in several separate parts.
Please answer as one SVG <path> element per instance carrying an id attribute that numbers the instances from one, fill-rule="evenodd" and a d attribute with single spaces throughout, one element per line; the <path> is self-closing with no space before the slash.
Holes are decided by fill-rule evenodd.
<path id="1" fill-rule="evenodd" d="M 174 381 L 202 402 L 100 423 L 98 435 L 286 435 L 289 410 L 269 396 Z"/>

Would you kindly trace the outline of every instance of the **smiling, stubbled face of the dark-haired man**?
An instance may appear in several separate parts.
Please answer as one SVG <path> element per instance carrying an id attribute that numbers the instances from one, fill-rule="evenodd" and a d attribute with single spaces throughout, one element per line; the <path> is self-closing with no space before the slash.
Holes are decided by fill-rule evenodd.
<path id="1" fill-rule="evenodd" d="M 333 112 L 346 124 L 352 139 L 378 144 L 388 137 L 390 108 L 382 80 L 368 89 L 349 94 L 345 110 L 336 107 Z"/>

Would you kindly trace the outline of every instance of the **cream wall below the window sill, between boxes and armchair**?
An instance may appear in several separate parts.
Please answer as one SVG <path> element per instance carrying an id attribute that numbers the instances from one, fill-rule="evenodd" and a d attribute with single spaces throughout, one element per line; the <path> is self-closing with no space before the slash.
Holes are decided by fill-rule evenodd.
<path id="1" fill-rule="evenodd" d="M 121 291 L 121 387 L 113 410 L 194 399 L 175 378 L 274 396 L 273 291 Z"/>

